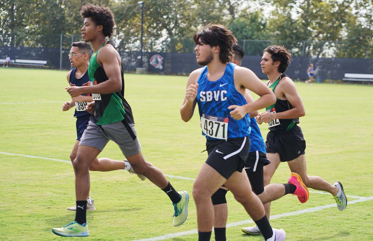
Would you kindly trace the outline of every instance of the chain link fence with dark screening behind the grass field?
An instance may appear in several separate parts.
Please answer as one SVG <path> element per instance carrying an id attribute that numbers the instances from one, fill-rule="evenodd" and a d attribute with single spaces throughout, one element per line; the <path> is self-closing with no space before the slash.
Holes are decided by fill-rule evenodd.
<path id="1" fill-rule="evenodd" d="M 147 71 L 166 74 L 188 74 L 199 67 L 192 37 L 144 38 L 142 60 L 140 37 L 122 36 L 110 40 L 115 43 L 126 71 L 136 71 L 141 61 Z M 81 35 L 48 34 L 30 38 L 25 34 L 3 33 L 0 36 L 0 59 L 9 55 L 11 59 L 44 60 L 47 61 L 46 68 L 68 70 L 72 67 L 68 53 L 75 41 L 82 41 Z M 373 74 L 373 44 L 370 42 L 238 40 L 245 50 L 243 65 L 260 77 L 265 77 L 259 68 L 264 48 L 274 44 L 285 46 L 293 57 L 288 71 L 291 70 L 298 79 L 307 78 L 309 63 L 314 63 L 316 72 L 328 79 L 342 79 L 340 73 Z"/>

